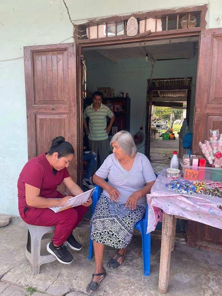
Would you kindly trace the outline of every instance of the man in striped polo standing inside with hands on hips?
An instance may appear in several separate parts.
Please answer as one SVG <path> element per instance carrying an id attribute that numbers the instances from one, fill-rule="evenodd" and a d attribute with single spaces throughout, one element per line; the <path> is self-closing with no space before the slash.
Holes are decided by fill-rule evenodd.
<path id="1" fill-rule="evenodd" d="M 89 149 L 99 154 L 100 163 L 109 155 L 108 134 L 115 120 L 115 115 L 106 106 L 102 104 L 103 94 L 94 92 L 93 103 L 86 107 L 83 113 L 83 123 L 89 140 Z M 109 116 L 110 122 L 107 126 L 106 117 Z M 89 127 L 86 118 L 89 117 Z"/>

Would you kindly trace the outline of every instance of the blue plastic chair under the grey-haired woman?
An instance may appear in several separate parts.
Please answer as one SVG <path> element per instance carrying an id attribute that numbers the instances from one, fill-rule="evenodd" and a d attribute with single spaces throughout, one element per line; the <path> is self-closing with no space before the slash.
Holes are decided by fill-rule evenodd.
<path id="1" fill-rule="evenodd" d="M 95 207 L 98 199 L 100 198 L 101 192 L 102 192 L 102 188 L 99 186 L 96 186 L 96 189 L 94 190 L 92 195 L 92 214 L 95 211 Z M 146 212 L 144 217 L 135 225 L 135 228 L 139 230 L 142 236 L 143 275 L 144 276 L 150 275 L 150 233 L 146 233 L 147 222 L 148 222 L 148 204 L 146 204 Z M 91 232 L 91 228 L 90 228 L 90 232 Z M 93 244 L 92 244 L 92 240 L 90 239 L 88 260 L 92 260 L 92 256 L 93 256 Z"/>

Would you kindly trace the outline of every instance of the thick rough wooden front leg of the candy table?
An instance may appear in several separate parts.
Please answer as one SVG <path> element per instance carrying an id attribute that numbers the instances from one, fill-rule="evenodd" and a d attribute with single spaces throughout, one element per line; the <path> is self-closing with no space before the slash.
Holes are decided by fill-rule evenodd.
<path id="1" fill-rule="evenodd" d="M 174 218 L 173 215 L 169 215 L 163 212 L 159 286 L 158 286 L 158 290 L 161 293 L 167 293 L 168 284 L 169 284 L 173 218 Z"/>

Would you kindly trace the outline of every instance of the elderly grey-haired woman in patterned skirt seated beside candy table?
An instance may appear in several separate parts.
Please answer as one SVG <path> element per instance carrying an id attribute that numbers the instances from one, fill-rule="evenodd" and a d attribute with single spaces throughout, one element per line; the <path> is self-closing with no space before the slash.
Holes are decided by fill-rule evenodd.
<path id="1" fill-rule="evenodd" d="M 91 220 L 95 273 L 87 286 L 88 293 L 94 292 L 106 276 L 103 267 L 105 245 L 117 249 L 108 267 L 113 269 L 122 264 L 134 226 L 145 214 L 146 194 L 156 180 L 149 160 L 137 152 L 129 132 L 121 130 L 115 134 L 110 145 L 113 153 L 93 176 L 93 182 L 102 187 L 103 192 Z"/>

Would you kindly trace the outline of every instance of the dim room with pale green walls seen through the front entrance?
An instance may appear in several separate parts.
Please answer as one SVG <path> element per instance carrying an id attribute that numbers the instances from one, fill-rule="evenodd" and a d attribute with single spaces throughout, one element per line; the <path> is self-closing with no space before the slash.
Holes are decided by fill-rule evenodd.
<path id="1" fill-rule="evenodd" d="M 103 103 L 107 104 L 116 115 L 109 138 L 121 129 L 129 130 L 135 136 L 138 151 L 146 153 L 146 141 L 150 143 L 145 128 L 149 119 L 146 110 L 147 80 L 152 79 L 154 84 L 153 77 L 156 81 L 161 80 L 158 77 L 183 77 L 189 80 L 187 82 L 190 87 L 189 104 L 187 103 L 188 91 L 186 94 L 183 93 L 186 98 L 182 95 L 176 97 L 177 94 L 174 97 L 175 100 L 168 103 L 174 103 L 175 106 L 172 107 L 182 107 L 183 117 L 185 116 L 183 110 L 189 109 L 186 117 L 189 117 L 189 129 L 192 131 L 198 42 L 199 36 L 195 36 L 84 47 L 87 77 L 84 107 L 92 103 L 94 91 L 102 91 Z M 163 101 L 161 96 L 158 93 L 154 94 L 153 105 L 160 107 L 162 103 L 163 107 L 167 107 L 167 101 Z M 177 134 L 176 140 L 172 141 L 178 143 Z M 179 150 L 179 145 L 175 150 Z M 154 166 L 154 162 L 152 165 Z M 154 167 L 154 171 L 158 173 L 159 169 Z"/>

